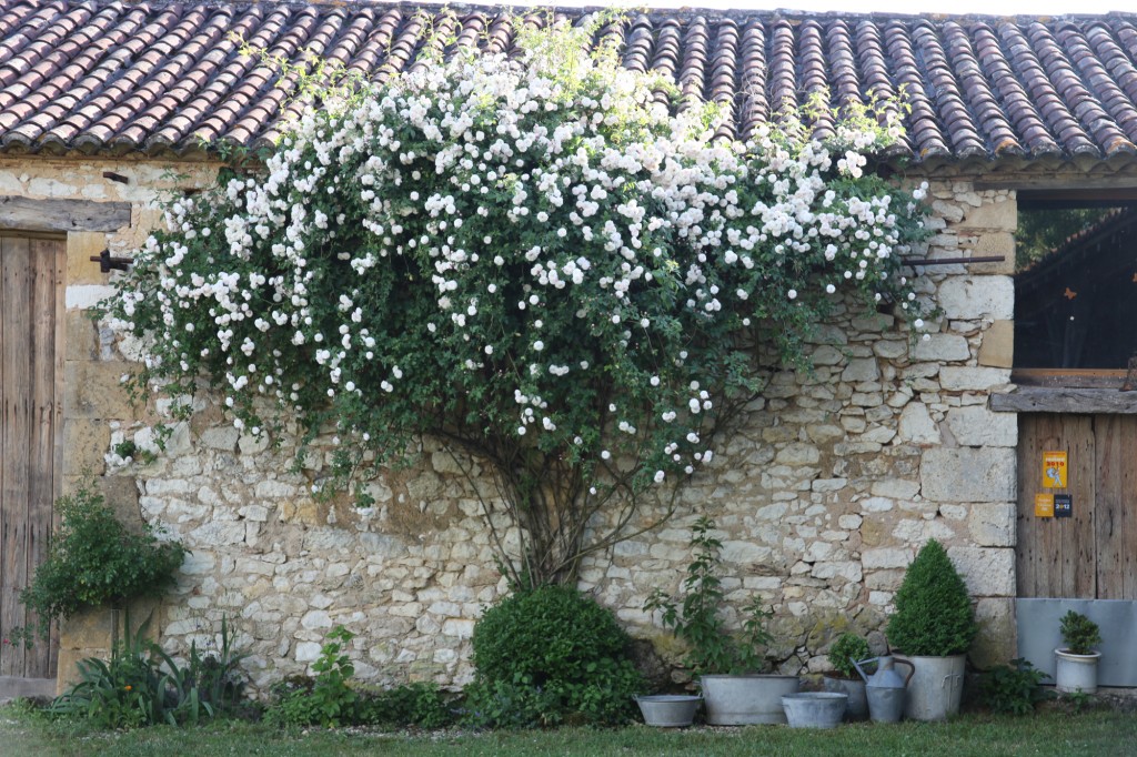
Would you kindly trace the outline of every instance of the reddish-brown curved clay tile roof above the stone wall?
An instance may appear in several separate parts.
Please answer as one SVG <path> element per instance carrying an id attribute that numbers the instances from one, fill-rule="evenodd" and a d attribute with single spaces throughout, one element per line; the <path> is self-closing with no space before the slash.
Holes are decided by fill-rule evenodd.
<path id="1" fill-rule="evenodd" d="M 0 0 L 0 151 L 260 144 L 299 106 L 235 38 L 382 78 L 415 65 L 431 23 L 458 45 L 511 49 L 511 22 L 470 6 Z M 628 67 L 728 105 L 736 134 L 819 89 L 836 105 L 903 89 L 915 160 L 1137 152 L 1137 15 L 659 11 L 604 33 Z"/>

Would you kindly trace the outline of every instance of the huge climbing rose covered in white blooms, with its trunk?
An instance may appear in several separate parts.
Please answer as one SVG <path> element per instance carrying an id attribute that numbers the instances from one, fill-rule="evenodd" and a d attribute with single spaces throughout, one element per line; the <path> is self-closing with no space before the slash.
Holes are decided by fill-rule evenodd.
<path id="1" fill-rule="evenodd" d="M 507 567 L 541 583 L 711 459 L 763 346 L 799 363 L 850 299 L 908 306 L 923 189 L 864 172 L 896 108 L 825 143 L 798 120 L 712 139 L 713 111 L 675 116 L 589 31 L 312 110 L 263 170 L 173 202 L 108 303 L 148 346 L 142 385 L 204 377 L 252 434 L 332 429 L 339 483 L 423 435 L 488 464 L 487 513 L 521 526 Z"/>

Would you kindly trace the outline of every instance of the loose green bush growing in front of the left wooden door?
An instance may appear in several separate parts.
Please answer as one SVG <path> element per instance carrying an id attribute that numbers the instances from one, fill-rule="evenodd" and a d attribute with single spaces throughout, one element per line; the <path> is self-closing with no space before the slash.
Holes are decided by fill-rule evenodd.
<path id="1" fill-rule="evenodd" d="M 159 541 L 149 525 L 127 531 L 102 496 L 89 486 L 56 502 L 63 523 L 48 558 L 35 571 L 19 600 L 38 617 L 36 629 L 13 635 L 31 644 L 48 638 L 51 623 L 86 607 L 122 605 L 139 597 L 160 596 L 174 583 L 185 557 L 176 541 Z"/>

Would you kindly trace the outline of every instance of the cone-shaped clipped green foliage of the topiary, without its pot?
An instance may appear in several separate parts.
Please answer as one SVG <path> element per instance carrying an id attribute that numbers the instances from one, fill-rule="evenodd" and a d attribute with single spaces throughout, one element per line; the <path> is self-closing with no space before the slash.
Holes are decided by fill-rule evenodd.
<path id="1" fill-rule="evenodd" d="M 896 592 L 888 643 L 905 655 L 947 657 L 966 652 L 978 632 L 968 588 L 947 551 L 932 539 Z"/>

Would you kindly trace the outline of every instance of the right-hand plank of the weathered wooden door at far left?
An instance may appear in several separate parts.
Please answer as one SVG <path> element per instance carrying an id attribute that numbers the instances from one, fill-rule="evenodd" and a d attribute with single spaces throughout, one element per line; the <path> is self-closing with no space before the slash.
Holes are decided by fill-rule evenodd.
<path id="1" fill-rule="evenodd" d="M 31 241 L 32 306 L 31 323 L 31 411 L 28 438 L 28 539 L 27 574 L 47 558 L 51 538 L 52 500 L 55 485 L 55 364 L 56 364 L 56 252 L 55 240 Z M 28 616 L 28 624 L 38 618 Z M 31 679 L 50 677 L 49 642 L 40 642 L 30 650 L 25 675 Z"/>

